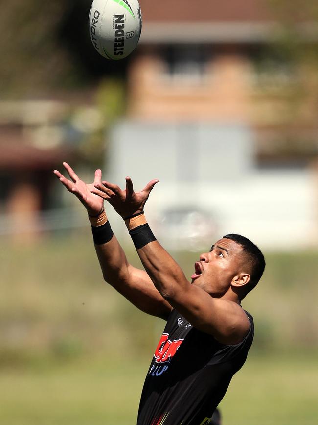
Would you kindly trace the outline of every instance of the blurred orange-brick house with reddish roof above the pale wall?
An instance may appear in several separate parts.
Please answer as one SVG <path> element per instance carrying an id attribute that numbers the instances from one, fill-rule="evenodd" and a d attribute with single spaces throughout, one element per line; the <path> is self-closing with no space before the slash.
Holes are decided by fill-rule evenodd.
<path id="1" fill-rule="evenodd" d="M 128 75 L 130 117 L 243 121 L 256 130 L 263 160 L 316 153 L 310 100 L 297 111 L 298 122 L 293 115 L 302 101 L 299 69 L 277 41 L 284 24 L 279 4 L 147 0 L 141 6 L 144 25 Z M 318 41 L 317 26 L 312 32 L 309 23 L 298 26 L 304 38 Z"/>

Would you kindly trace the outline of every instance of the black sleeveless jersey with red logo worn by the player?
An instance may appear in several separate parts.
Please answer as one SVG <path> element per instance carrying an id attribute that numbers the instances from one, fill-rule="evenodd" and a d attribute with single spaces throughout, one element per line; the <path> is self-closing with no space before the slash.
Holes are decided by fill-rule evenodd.
<path id="1" fill-rule="evenodd" d="M 204 425 L 243 366 L 254 325 L 236 345 L 221 344 L 176 310 L 169 315 L 143 386 L 137 425 Z"/>

